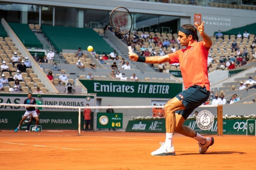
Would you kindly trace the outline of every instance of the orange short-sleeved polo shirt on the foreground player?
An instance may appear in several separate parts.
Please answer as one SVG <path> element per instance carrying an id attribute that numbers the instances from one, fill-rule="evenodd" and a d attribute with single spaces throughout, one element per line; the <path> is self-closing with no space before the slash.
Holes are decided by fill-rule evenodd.
<path id="1" fill-rule="evenodd" d="M 195 41 L 185 49 L 168 54 L 171 59 L 170 64 L 180 63 L 185 89 L 193 85 L 199 85 L 201 87 L 205 86 L 206 90 L 210 91 L 207 70 L 207 58 L 210 48 L 203 46 L 203 42 Z"/>

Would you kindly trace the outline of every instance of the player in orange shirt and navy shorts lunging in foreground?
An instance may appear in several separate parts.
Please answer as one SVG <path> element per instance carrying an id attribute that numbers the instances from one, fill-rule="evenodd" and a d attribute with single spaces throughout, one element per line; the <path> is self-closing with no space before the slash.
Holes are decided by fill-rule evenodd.
<path id="1" fill-rule="evenodd" d="M 196 26 L 196 27 L 195 27 Z M 185 49 L 179 49 L 165 56 L 138 56 L 129 54 L 131 61 L 145 63 L 180 63 L 185 90 L 164 105 L 166 116 L 166 139 L 160 142 L 160 148 L 151 153 L 152 156 L 175 155 L 173 147 L 174 132 L 194 138 L 199 144 L 199 153 L 205 153 L 214 139 L 204 138 L 200 134 L 183 123 L 195 108 L 207 101 L 210 95 L 210 83 L 208 80 L 207 58 L 212 45 L 211 38 L 204 32 L 204 22 L 200 26 L 195 23 L 185 24 L 180 27 L 178 41 Z M 197 31 L 204 41 L 198 42 Z M 178 113 L 175 111 L 178 110 Z"/>

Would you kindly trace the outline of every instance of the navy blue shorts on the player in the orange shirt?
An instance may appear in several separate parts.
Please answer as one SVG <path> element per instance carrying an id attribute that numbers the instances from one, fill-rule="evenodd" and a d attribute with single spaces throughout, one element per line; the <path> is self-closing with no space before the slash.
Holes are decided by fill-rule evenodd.
<path id="1" fill-rule="evenodd" d="M 178 110 L 175 113 L 181 114 L 186 120 L 195 108 L 202 105 L 209 99 L 210 92 L 206 90 L 206 87 L 194 85 L 187 90 L 180 92 L 176 97 L 182 101 L 182 104 L 186 109 Z"/>

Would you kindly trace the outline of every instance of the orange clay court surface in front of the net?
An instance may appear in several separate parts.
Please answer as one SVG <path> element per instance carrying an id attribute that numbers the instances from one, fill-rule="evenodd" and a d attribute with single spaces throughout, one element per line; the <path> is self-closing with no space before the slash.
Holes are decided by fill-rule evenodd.
<path id="1" fill-rule="evenodd" d="M 255 170 L 255 136 L 214 136 L 201 155 L 197 141 L 173 138 L 175 156 L 150 156 L 158 136 L 0 137 L 1 170 Z"/>

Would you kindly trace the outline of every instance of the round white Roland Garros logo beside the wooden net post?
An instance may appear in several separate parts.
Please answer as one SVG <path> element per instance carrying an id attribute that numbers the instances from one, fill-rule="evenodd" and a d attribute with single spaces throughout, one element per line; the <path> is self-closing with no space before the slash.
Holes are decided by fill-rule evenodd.
<path id="1" fill-rule="evenodd" d="M 200 129 L 204 131 L 211 129 L 214 124 L 213 114 L 208 110 L 202 110 L 197 115 L 196 124 Z"/>

